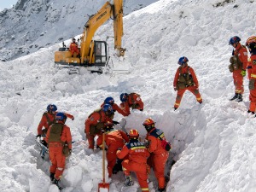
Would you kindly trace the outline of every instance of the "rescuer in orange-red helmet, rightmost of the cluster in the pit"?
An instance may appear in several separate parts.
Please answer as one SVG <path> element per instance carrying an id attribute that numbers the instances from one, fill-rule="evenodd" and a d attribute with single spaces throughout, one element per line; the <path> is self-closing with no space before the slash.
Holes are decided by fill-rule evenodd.
<path id="1" fill-rule="evenodd" d="M 148 166 L 154 170 L 154 175 L 158 181 L 158 191 L 165 191 L 166 189 L 166 177 L 165 166 L 168 159 L 168 151 L 162 147 L 162 141 L 166 140 L 165 134 L 160 129 L 154 127 L 153 119 L 145 119 L 143 126 L 148 132 L 145 140 L 147 141 L 148 151 L 150 157 L 148 158 Z"/>

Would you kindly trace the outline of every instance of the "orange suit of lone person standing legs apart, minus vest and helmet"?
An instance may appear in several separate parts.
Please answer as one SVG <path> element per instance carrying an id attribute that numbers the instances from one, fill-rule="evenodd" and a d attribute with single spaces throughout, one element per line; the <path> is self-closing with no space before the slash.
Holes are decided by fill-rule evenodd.
<path id="1" fill-rule="evenodd" d="M 195 95 L 197 102 L 200 102 L 200 103 L 202 102 L 202 98 L 201 98 L 200 92 L 198 90 L 198 87 L 199 87 L 198 80 L 196 78 L 194 69 L 192 67 L 189 67 L 187 65 L 186 67 L 178 67 L 177 68 L 177 72 L 175 73 L 175 77 L 174 77 L 174 81 L 173 81 L 173 87 L 177 87 L 178 78 L 180 75 L 183 75 L 184 73 L 189 73 L 189 75 L 191 75 L 195 84 L 187 86 L 184 89 L 177 90 L 177 96 L 176 96 L 176 101 L 174 103 L 174 108 L 179 107 L 180 102 L 183 98 L 183 94 L 186 90 L 189 90 L 191 93 L 193 93 Z"/>

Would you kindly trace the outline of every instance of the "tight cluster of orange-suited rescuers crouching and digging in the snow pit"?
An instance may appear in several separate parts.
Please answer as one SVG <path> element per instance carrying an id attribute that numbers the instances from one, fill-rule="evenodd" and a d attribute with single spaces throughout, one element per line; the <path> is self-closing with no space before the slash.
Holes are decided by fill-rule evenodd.
<path id="1" fill-rule="evenodd" d="M 146 119 L 143 122 L 143 126 L 148 131 L 146 143 L 140 141 L 139 133 L 135 129 L 131 129 L 129 133 L 114 129 L 113 125 L 119 123 L 113 120 L 115 112 L 128 116 L 131 114 L 131 108 L 143 111 L 143 101 L 137 93 L 122 93 L 120 101 L 118 105 L 113 97 L 107 97 L 101 108 L 90 113 L 85 120 L 84 132 L 89 148 L 95 148 L 94 138 L 96 136 L 98 136 L 96 146 L 102 148 L 102 131 L 104 131 L 108 148 L 108 177 L 118 172 L 119 164 L 121 164 L 125 174 L 125 185 L 132 185 L 131 172 L 135 172 L 142 191 L 148 192 L 147 178 L 150 167 L 152 167 L 158 180 L 158 191 L 165 191 L 165 166 L 171 145 L 166 142 L 163 131 L 154 127 L 155 123 L 152 119 Z M 167 150 L 162 144 L 163 141 L 169 145 Z"/>

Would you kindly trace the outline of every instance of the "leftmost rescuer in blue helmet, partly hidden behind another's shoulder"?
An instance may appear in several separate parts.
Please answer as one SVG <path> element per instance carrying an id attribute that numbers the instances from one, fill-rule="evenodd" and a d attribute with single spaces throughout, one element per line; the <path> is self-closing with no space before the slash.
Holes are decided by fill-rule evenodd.
<path id="1" fill-rule="evenodd" d="M 55 123 L 55 114 L 57 113 L 57 107 L 55 104 L 49 104 L 46 108 L 46 112 L 44 112 L 42 119 L 40 120 L 40 123 L 38 125 L 38 136 L 41 137 L 46 135 L 46 132 L 49 129 L 49 126 Z M 67 117 L 70 119 L 74 119 L 72 114 L 66 113 Z M 44 146 L 47 146 L 47 143 L 45 140 L 42 141 Z"/>

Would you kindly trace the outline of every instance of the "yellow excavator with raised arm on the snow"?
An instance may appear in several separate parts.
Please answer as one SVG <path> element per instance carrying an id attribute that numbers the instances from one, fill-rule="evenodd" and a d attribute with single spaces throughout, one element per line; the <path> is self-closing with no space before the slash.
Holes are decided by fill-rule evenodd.
<path id="1" fill-rule="evenodd" d="M 125 49 L 121 47 L 123 36 L 123 0 L 113 0 L 113 4 L 106 2 L 102 8 L 91 15 L 84 25 L 81 36 L 79 55 L 71 55 L 68 48 L 63 47 L 55 51 L 55 64 L 61 66 L 104 67 L 108 64 L 108 47 L 106 41 L 92 40 L 96 30 L 107 20 L 113 19 L 114 49 L 117 56 L 124 56 Z"/>

